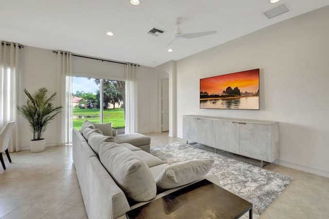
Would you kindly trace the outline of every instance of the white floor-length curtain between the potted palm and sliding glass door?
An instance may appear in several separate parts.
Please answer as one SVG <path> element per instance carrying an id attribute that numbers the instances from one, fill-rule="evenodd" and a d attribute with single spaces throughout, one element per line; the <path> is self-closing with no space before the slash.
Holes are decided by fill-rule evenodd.
<path id="1" fill-rule="evenodd" d="M 58 145 L 72 143 L 72 54 L 57 51 L 58 105 L 63 106 L 59 116 Z M 61 93 L 60 93 L 61 92 Z"/>

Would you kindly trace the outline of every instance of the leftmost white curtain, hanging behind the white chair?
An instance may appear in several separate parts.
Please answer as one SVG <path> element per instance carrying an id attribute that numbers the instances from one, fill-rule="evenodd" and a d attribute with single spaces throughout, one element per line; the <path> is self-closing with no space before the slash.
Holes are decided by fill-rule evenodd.
<path id="1" fill-rule="evenodd" d="M 21 150 L 19 121 L 16 105 L 19 104 L 19 56 L 17 43 L 0 41 L 0 131 L 10 122 L 15 121 L 15 129 L 10 138 L 9 152 Z"/>

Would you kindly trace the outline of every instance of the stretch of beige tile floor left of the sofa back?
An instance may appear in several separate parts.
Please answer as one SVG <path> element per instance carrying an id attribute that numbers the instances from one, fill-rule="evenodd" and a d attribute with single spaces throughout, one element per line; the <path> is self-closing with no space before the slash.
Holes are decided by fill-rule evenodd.
<path id="1" fill-rule="evenodd" d="M 86 216 L 71 146 L 10 156 L 12 163 L 4 157 L 7 170 L 0 170 L 0 218 Z"/>

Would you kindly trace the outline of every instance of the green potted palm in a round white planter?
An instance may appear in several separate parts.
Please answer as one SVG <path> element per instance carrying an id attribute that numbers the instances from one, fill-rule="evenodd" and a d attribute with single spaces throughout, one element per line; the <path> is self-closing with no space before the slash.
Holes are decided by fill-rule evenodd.
<path id="1" fill-rule="evenodd" d="M 48 123 L 61 112 L 62 106 L 53 106 L 52 101 L 57 93 L 53 93 L 48 98 L 45 87 L 40 88 L 33 95 L 27 89 L 24 89 L 24 92 L 28 99 L 23 105 L 17 106 L 17 110 L 27 119 L 33 132 L 33 139 L 30 141 L 31 152 L 42 152 L 46 145 L 42 133 L 46 131 Z"/>

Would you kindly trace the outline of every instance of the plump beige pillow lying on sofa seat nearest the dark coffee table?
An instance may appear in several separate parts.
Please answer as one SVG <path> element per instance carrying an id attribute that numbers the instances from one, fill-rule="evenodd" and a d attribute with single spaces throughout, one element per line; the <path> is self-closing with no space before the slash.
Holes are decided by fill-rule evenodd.
<path id="1" fill-rule="evenodd" d="M 155 179 L 158 189 L 173 189 L 184 186 L 204 177 L 211 169 L 214 160 L 193 159 L 168 166 Z"/>

